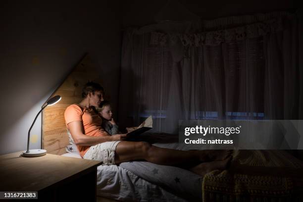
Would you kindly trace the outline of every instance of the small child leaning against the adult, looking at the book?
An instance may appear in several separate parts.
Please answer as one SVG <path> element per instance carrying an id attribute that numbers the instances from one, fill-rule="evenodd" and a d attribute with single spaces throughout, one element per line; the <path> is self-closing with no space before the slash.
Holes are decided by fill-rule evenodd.
<path id="1" fill-rule="evenodd" d="M 101 101 L 100 107 L 96 109 L 102 117 L 102 128 L 110 135 L 119 134 L 119 127 L 112 118 L 110 103 Z"/>

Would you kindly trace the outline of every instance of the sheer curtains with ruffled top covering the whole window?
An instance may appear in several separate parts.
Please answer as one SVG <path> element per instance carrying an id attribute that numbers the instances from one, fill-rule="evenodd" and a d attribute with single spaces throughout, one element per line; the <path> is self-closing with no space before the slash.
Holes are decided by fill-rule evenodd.
<path id="1" fill-rule="evenodd" d="M 181 119 L 303 118 L 301 10 L 201 24 L 125 31 L 122 127 L 148 115 L 154 131 L 167 133 L 177 133 Z"/>

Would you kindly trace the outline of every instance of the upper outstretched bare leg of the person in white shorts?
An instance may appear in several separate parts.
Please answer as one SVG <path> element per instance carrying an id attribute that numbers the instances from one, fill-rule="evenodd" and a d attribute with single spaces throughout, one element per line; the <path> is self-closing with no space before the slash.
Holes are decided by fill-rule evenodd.
<path id="1" fill-rule="evenodd" d="M 130 160 L 146 160 L 162 165 L 178 165 L 184 162 L 207 162 L 224 160 L 230 155 L 230 151 L 180 151 L 163 149 L 146 142 L 120 142 L 116 147 L 117 163 Z"/>

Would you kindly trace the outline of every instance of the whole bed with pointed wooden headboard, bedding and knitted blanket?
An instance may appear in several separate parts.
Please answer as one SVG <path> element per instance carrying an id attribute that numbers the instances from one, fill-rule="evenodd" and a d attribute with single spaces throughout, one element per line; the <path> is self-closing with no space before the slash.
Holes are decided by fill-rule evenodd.
<path id="1" fill-rule="evenodd" d="M 42 148 L 49 153 L 80 157 L 75 149 L 69 150 L 72 145 L 65 128 L 64 110 L 81 101 L 81 88 L 88 80 L 102 84 L 100 73 L 86 55 L 53 93 L 60 95 L 62 100 L 43 112 Z M 138 140 L 184 150 L 176 137 L 146 133 Z M 185 169 L 148 162 L 105 165 L 98 167 L 97 181 L 97 195 L 102 201 L 106 198 L 154 202 L 303 200 L 303 163 L 285 151 L 234 151 L 227 170 L 212 171 L 203 178 Z"/>

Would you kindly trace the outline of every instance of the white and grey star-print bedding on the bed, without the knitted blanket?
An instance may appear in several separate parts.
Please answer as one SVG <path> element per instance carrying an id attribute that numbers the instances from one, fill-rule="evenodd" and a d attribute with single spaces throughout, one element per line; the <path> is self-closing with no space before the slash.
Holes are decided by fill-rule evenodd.
<path id="1" fill-rule="evenodd" d="M 153 145 L 178 149 L 178 144 L 172 143 Z M 67 148 L 63 156 L 81 157 L 74 145 Z M 119 166 L 101 165 L 97 175 L 97 195 L 101 197 L 119 201 L 202 201 L 202 177 L 173 166 L 124 162 Z"/>

